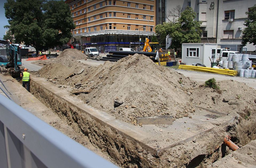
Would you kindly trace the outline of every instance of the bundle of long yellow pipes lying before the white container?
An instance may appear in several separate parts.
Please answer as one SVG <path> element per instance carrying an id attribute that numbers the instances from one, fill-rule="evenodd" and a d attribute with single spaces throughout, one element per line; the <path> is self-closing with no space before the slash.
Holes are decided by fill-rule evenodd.
<path id="1" fill-rule="evenodd" d="M 192 65 L 179 65 L 179 69 L 208 72 L 208 73 L 215 73 L 215 74 L 222 74 L 222 75 L 230 75 L 230 76 L 237 75 L 237 71 L 235 71 L 235 70 L 200 67 L 200 66 L 192 66 Z"/>

